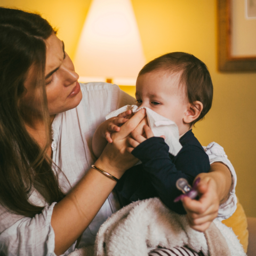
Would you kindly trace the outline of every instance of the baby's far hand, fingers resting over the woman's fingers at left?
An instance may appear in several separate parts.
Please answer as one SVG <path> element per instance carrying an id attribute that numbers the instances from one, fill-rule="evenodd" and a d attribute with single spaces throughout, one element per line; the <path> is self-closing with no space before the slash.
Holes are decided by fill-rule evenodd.
<path id="1" fill-rule="evenodd" d="M 115 117 L 111 117 L 107 121 L 105 121 L 106 125 L 104 125 L 105 129 L 103 131 L 103 137 L 105 137 L 109 143 L 113 142 L 113 140 L 111 139 L 111 133 L 119 132 L 120 126 L 122 126 L 130 119 L 131 114 L 132 110 L 127 110 L 124 113 L 121 113 Z"/>

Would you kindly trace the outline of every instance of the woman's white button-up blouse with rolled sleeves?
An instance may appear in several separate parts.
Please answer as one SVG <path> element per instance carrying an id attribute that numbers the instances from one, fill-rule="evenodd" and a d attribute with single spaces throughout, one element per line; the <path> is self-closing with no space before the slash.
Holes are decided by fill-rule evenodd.
<path id="1" fill-rule="evenodd" d="M 105 116 L 124 105 L 131 105 L 134 99 L 119 89 L 117 85 L 107 83 L 81 84 L 83 99 L 74 109 L 55 116 L 53 130 L 53 162 L 62 172 L 58 172 L 61 188 L 68 192 L 83 177 L 96 158 L 92 152 L 92 137 Z M 227 202 L 219 209 L 219 218 L 226 219 L 236 210 L 236 173 L 225 151 L 217 143 L 205 148 L 210 163 L 222 162 L 229 167 L 233 177 L 233 186 Z M 67 180 L 66 180 L 66 178 Z M 42 196 L 33 190 L 29 201 L 45 206 L 34 218 L 23 217 L 6 211 L 0 206 L 0 254 L 20 256 L 55 255 L 54 231 L 51 215 L 55 203 L 47 205 Z M 116 210 L 118 201 L 111 193 L 89 227 L 84 231 L 79 247 L 94 243 L 100 225 Z M 75 244 L 63 255 L 75 250 Z"/>

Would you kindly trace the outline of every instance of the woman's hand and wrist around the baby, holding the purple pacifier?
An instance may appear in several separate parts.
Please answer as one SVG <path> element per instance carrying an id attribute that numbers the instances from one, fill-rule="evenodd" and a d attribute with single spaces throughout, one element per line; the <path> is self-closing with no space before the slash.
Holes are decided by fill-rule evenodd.
<path id="1" fill-rule="evenodd" d="M 218 216 L 220 203 L 224 203 L 229 196 L 231 174 L 226 165 L 213 163 L 209 173 L 200 173 L 195 179 L 198 177 L 201 178 L 197 186 L 199 200 L 184 197 L 182 203 L 190 227 L 204 232 Z"/>

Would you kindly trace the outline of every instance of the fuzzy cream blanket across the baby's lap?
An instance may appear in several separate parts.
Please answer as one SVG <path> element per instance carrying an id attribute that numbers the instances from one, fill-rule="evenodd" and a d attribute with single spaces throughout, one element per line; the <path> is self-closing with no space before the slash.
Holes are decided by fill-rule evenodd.
<path id="1" fill-rule="evenodd" d="M 134 202 L 103 223 L 94 245 L 94 256 L 147 256 L 158 246 L 187 245 L 210 256 L 246 255 L 233 231 L 214 220 L 205 233 L 191 229 L 185 215 L 167 209 L 158 199 Z M 92 256 L 92 247 L 70 256 Z"/>

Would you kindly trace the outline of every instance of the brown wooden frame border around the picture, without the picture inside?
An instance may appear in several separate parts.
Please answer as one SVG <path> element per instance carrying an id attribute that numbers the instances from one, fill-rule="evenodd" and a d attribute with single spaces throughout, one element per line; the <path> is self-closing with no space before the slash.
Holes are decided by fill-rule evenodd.
<path id="1" fill-rule="evenodd" d="M 218 69 L 229 72 L 256 71 L 256 54 L 246 54 L 246 56 L 231 54 L 232 33 L 235 32 L 232 29 L 236 29 L 231 26 L 231 1 L 218 0 Z"/>

